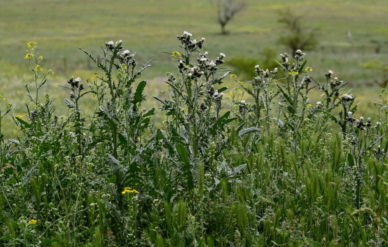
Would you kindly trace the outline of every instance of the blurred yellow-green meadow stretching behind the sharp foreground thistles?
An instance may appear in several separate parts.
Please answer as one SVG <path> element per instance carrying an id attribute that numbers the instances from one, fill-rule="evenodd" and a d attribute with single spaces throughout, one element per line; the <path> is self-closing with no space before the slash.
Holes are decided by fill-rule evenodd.
<path id="1" fill-rule="evenodd" d="M 57 114 L 66 115 L 69 92 L 58 85 L 66 86 L 72 76 L 84 81 L 98 71 L 77 47 L 99 57 L 104 41 L 121 39 L 125 49 L 137 53 L 140 65 L 158 58 L 143 74 L 149 95 L 144 106 L 158 108 L 151 96 L 162 94 L 166 72 L 176 70 L 173 57 L 161 51 L 180 50 L 178 34 L 186 30 L 197 40 L 206 38 L 203 51 L 210 57 L 225 53 L 225 67 L 238 81 L 249 81 L 256 64 L 272 70 L 280 53 L 292 54 L 282 37 L 294 32 L 285 20 L 298 20 L 307 41 L 314 41 L 303 50 L 313 69 L 310 75 L 323 81 L 324 73 L 332 70 L 349 82 L 356 102 L 363 101 L 361 114 L 377 111 L 374 102 L 388 81 L 386 0 L 247 0 L 225 26 L 227 35 L 221 33 L 217 7 L 218 0 L 0 0 L 0 95 L 13 104 L 14 115 L 26 114 L 23 84 L 32 86 L 33 74 L 24 57 L 27 43 L 35 41 L 43 70 L 55 72 L 41 94 L 55 95 Z M 231 90 L 238 86 L 232 79 L 227 84 Z M 90 102 L 84 98 L 82 107 L 92 114 L 95 106 Z M 156 124 L 162 120 L 158 115 L 155 119 Z M 3 125 L 8 138 L 16 133 L 11 117 Z"/>

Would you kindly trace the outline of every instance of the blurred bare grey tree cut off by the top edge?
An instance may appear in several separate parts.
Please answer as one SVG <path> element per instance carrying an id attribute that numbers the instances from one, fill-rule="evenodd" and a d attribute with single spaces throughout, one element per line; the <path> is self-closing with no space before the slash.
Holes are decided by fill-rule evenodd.
<path id="1" fill-rule="evenodd" d="M 218 0 L 218 23 L 221 25 L 221 33 L 228 34 L 226 24 L 235 14 L 246 6 L 246 0 Z"/>

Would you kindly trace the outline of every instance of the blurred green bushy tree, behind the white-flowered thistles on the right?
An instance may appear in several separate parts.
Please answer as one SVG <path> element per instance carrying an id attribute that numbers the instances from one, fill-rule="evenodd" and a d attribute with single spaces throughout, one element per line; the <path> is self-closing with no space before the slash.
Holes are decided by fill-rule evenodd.
<path id="1" fill-rule="evenodd" d="M 279 22 L 286 24 L 285 35 L 279 38 L 279 43 L 291 48 L 293 56 L 296 50 L 311 50 L 318 44 L 318 29 L 308 29 L 301 24 L 301 16 L 290 14 L 290 11 L 281 13 Z"/>

